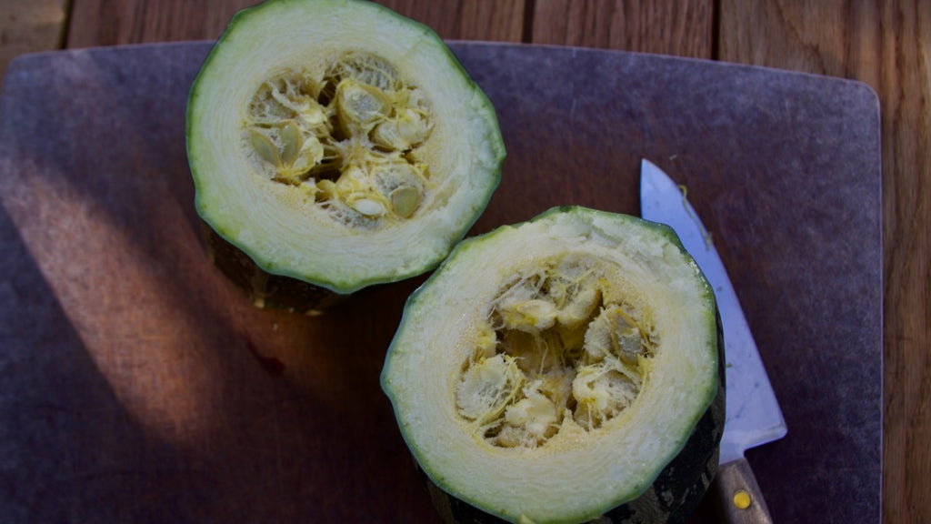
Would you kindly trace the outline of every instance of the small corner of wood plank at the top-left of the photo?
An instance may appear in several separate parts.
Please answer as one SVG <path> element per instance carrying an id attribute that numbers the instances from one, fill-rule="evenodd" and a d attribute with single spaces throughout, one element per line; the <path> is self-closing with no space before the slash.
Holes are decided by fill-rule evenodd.
<path id="1" fill-rule="evenodd" d="M 66 0 L 0 0 L 0 78 L 17 56 L 61 47 Z"/>

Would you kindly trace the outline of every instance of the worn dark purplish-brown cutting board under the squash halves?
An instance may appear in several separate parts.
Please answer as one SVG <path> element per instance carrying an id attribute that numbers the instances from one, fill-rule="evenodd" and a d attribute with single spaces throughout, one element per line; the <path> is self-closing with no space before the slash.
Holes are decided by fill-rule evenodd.
<path id="1" fill-rule="evenodd" d="M 718 62 L 452 48 L 498 108 L 508 151 L 472 233 L 560 204 L 639 214 L 640 159 L 652 159 L 688 187 L 783 407 L 789 435 L 749 452 L 776 522 L 878 522 L 874 93 Z M 423 279 L 304 317 L 257 310 L 218 274 L 184 153 L 208 50 L 62 51 L 8 69 L 0 515 L 435 520 L 378 385 Z"/>

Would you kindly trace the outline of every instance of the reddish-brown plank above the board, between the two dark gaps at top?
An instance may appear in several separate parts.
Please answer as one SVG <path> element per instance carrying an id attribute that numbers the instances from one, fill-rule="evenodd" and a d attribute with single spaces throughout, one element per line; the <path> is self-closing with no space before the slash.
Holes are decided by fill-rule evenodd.
<path id="1" fill-rule="evenodd" d="M 531 40 L 711 58 L 711 0 L 537 0 Z"/>

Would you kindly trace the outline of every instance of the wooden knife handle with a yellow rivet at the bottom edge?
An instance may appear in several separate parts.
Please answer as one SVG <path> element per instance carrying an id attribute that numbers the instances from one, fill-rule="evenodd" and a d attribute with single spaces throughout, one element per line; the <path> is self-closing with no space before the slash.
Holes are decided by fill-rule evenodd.
<path id="1" fill-rule="evenodd" d="M 722 464 L 711 483 L 715 505 L 730 524 L 773 524 L 747 459 Z"/>

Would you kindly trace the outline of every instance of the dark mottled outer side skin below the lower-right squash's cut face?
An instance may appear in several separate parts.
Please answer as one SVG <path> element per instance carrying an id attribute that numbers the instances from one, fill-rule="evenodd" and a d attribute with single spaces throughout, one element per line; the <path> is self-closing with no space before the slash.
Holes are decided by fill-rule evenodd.
<path id="1" fill-rule="evenodd" d="M 597 524 L 683 524 L 695 514 L 708 486 L 718 473 L 721 437 L 724 433 L 724 339 L 718 318 L 718 391 L 695 424 L 689 439 L 640 497 L 605 513 Z M 419 468 L 418 468 L 419 469 Z M 452 497 L 434 484 L 423 471 L 430 500 L 448 524 L 506 523 L 479 508 Z M 519 486 L 514 487 L 519 490 Z M 541 523 L 537 523 L 541 524 Z"/>

